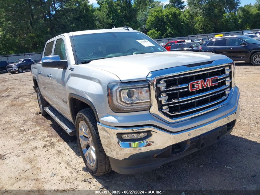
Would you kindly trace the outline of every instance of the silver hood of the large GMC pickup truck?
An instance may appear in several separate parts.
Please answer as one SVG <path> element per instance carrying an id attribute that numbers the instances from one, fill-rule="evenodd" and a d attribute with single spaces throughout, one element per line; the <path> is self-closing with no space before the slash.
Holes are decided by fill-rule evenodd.
<path id="1" fill-rule="evenodd" d="M 145 80 L 151 71 L 227 58 L 212 53 L 167 51 L 93 60 L 88 65 L 111 72 L 127 82 Z"/>

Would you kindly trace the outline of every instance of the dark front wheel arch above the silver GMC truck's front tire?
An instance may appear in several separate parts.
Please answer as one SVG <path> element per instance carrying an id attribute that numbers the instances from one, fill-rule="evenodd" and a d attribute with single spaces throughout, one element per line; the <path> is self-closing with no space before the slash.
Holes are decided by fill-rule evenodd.
<path id="1" fill-rule="evenodd" d="M 68 95 L 68 103 L 69 103 L 69 108 L 70 108 L 70 116 L 75 124 L 76 116 L 78 111 L 84 109 L 84 108 L 91 108 L 95 114 L 95 118 L 97 122 L 99 122 L 98 119 L 98 113 L 96 111 L 96 108 L 94 107 L 94 104 L 86 98 L 83 98 L 77 94 L 70 93 Z"/>

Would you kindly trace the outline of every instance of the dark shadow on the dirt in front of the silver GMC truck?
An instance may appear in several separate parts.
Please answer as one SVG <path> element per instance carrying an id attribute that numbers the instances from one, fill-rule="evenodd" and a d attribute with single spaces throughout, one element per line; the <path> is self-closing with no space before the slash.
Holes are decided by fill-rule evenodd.
<path id="1" fill-rule="evenodd" d="M 259 148 L 258 142 L 229 135 L 159 169 L 94 178 L 108 190 L 259 189 Z"/>

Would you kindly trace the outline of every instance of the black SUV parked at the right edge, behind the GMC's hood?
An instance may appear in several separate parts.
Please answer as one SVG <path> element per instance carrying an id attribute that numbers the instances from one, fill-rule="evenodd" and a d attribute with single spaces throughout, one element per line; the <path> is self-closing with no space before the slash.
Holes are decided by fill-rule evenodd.
<path id="1" fill-rule="evenodd" d="M 251 62 L 260 65 L 260 42 L 245 35 L 218 37 L 206 41 L 201 52 L 223 54 L 233 61 Z"/>

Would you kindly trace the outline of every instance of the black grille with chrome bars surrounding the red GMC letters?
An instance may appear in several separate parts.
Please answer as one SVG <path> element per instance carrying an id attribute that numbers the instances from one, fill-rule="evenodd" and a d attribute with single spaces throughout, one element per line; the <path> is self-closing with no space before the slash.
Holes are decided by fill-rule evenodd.
<path id="1" fill-rule="evenodd" d="M 197 91 L 189 90 L 189 83 L 217 76 L 217 85 Z M 213 67 L 206 70 L 185 72 L 156 80 L 158 110 L 170 119 L 203 111 L 222 103 L 231 90 L 231 65 Z"/>

